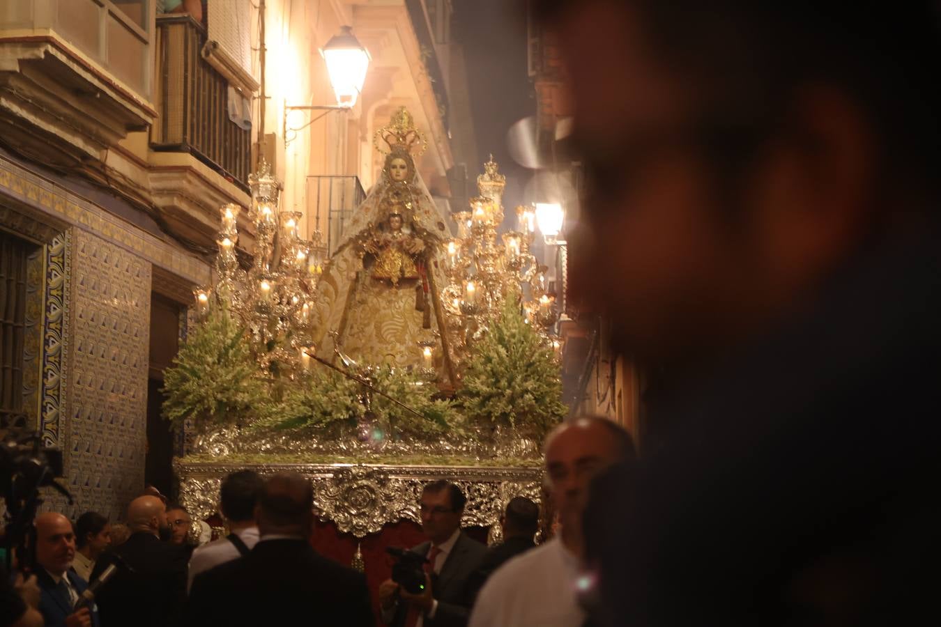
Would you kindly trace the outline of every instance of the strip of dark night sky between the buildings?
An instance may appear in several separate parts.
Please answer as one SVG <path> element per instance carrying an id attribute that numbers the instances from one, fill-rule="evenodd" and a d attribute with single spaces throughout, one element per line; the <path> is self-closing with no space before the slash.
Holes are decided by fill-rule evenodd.
<path id="1" fill-rule="evenodd" d="M 526 3 L 523 0 L 454 0 L 453 36 L 464 46 L 470 107 L 480 164 L 468 164 L 474 184 L 488 152 L 506 175 L 503 206 L 522 203 L 523 186 L 533 172 L 513 163 L 506 132 L 520 118 L 535 114 L 532 83 L 526 71 Z M 476 194 L 474 188 L 473 193 Z"/>

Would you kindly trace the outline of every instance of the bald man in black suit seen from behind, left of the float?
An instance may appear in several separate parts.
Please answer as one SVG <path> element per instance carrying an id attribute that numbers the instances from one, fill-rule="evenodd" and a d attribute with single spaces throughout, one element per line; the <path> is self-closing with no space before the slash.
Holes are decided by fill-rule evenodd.
<path id="1" fill-rule="evenodd" d="M 102 588 L 98 608 L 102 627 L 167 627 L 177 624 L 186 594 L 186 555 L 169 543 L 167 509 L 156 496 L 138 496 L 127 508 L 131 537 L 107 549 L 91 572 L 94 581 L 120 556 L 120 570 Z"/>

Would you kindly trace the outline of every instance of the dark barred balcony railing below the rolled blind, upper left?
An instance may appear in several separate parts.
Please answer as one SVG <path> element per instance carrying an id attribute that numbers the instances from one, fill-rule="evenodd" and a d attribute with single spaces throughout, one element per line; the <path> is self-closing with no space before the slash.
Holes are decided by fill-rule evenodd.
<path id="1" fill-rule="evenodd" d="M 202 57 L 206 33 L 189 15 L 156 21 L 156 107 L 151 148 L 188 152 L 248 190 L 251 131 L 229 118 L 229 83 Z"/>

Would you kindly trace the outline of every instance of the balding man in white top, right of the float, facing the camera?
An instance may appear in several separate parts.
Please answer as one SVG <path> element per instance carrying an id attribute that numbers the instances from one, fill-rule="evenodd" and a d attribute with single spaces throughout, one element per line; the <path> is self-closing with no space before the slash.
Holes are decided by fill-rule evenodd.
<path id="1" fill-rule="evenodd" d="M 581 627 L 582 511 L 598 471 L 634 455 L 630 434 L 604 418 L 566 422 L 546 440 L 550 497 L 558 536 L 514 557 L 493 573 L 470 614 L 470 627 Z"/>

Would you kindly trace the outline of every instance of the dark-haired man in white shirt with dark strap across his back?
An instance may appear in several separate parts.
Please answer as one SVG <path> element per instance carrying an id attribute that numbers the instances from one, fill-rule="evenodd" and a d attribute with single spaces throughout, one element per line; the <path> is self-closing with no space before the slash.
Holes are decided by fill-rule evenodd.
<path id="1" fill-rule="evenodd" d="M 199 573 L 246 555 L 258 542 L 255 504 L 263 485 L 262 478 L 252 470 L 240 470 L 222 479 L 219 512 L 226 519 L 230 534 L 193 551 L 186 580 L 187 592 L 193 588 L 193 580 Z"/>

